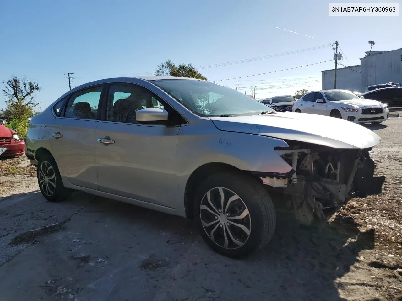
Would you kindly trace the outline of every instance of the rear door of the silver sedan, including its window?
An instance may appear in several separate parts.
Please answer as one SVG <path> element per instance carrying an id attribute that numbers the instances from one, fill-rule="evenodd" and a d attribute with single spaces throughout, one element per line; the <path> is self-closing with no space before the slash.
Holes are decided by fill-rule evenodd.
<path id="1" fill-rule="evenodd" d="M 98 106 L 103 86 L 71 95 L 65 110 L 49 128 L 53 157 L 73 185 L 98 189 L 95 144 Z"/>

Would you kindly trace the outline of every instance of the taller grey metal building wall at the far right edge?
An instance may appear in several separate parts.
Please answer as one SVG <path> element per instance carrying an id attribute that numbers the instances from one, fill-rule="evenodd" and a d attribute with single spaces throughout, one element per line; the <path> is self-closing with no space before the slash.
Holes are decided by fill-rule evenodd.
<path id="1" fill-rule="evenodd" d="M 360 66 L 362 92 L 369 85 L 402 83 L 402 49 L 363 57 L 360 59 Z"/>

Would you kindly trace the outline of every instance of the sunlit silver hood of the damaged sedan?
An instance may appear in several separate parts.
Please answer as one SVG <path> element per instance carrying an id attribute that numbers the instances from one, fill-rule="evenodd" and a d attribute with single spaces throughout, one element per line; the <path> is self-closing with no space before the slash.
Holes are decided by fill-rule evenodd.
<path id="1" fill-rule="evenodd" d="M 210 119 L 222 131 L 257 134 L 333 148 L 370 148 L 381 141 L 377 134 L 360 124 L 322 115 L 276 112 Z"/>

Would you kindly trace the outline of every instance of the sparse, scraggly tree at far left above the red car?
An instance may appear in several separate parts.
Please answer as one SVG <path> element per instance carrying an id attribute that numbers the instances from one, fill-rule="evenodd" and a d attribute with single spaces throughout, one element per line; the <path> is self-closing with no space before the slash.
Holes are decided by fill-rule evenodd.
<path id="1" fill-rule="evenodd" d="M 40 91 L 38 83 L 29 81 L 26 77 L 11 77 L 8 81 L 4 81 L 3 93 L 6 100 L 6 108 L 2 114 L 8 115 L 16 119 L 24 119 L 32 117 L 34 108 L 39 104 L 35 102 L 34 94 Z"/>

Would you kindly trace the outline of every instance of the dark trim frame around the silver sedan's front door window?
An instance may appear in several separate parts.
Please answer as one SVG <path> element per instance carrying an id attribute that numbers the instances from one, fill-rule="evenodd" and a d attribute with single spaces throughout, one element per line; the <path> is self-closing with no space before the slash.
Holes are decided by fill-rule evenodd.
<path id="1" fill-rule="evenodd" d="M 112 85 L 132 85 L 132 86 L 139 86 L 139 87 L 143 87 L 144 89 L 148 90 L 151 94 L 153 94 L 154 96 L 156 96 L 157 98 L 160 98 L 164 103 L 166 103 L 166 105 L 168 105 L 170 108 L 172 108 L 172 110 L 174 110 L 178 116 L 180 116 L 180 119 L 183 120 L 184 123 L 182 124 L 175 124 L 175 125 L 166 125 L 166 124 L 152 124 L 152 123 L 127 123 L 127 122 L 118 122 L 118 121 L 111 121 L 111 120 L 106 120 L 107 118 L 107 98 L 109 97 L 109 89 L 110 86 Z M 183 117 L 182 114 L 180 114 L 172 105 L 169 104 L 169 102 L 167 102 L 166 100 L 164 100 L 161 96 L 159 96 L 158 94 L 156 94 L 154 91 L 152 91 L 151 89 L 149 89 L 148 87 L 145 87 L 142 84 L 139 83 L 131 83 L 131 82 L 125 82 L 125 81 L 116 81 L 116 82 L 109 82 L 105 84 L 105 94 L 103 96 L 101 96 L 101 101 L 102 101 L 102 109 L 100 112 L 100 119 L 99 121 L 101 122 L 111 122 L 111 123 L 115 123 L 115 124 L 127 124 L 127 125 L 139 125 L 139 126 L 157 126 L 157 127 L 175 127 L 175 126 L 186 126 L 189 124 L 188 120 L 186 118 Z M 159 88 L 159 87 L 158 87 Z M 160 89 L 160 88 L 159 88 Z"/>

